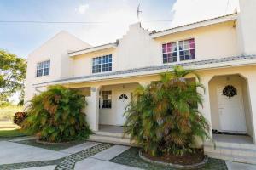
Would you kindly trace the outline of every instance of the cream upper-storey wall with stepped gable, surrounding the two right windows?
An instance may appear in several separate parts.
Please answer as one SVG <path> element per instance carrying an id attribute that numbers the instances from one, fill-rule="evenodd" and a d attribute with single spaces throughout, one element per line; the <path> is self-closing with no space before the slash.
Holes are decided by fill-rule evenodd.
<path id="1" fill-rule="evenodd" d="M 153 39 L 140 23 L 131 25 L 117 48 L 104 49 L 73 57 L 73 76 L 90 75 L 92 58 L 113 55 L 113 71 L 123 71 L 152 65 L 163 65 L 162 43 L 195 37 L 196 60 L 239 55 L 234 21 L 183 31 Z M 189 62 L 189 61 L 182 61 Z M 179 63 L 179 62 L 176 62 Z"/>

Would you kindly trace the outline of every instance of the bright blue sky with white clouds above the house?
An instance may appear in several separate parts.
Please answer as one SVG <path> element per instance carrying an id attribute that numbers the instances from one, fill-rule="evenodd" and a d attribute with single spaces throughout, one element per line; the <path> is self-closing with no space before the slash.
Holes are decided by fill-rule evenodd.
<path id="1" fill-rule="evenodd" d="M 233 13 L 238 0 L 0 0 L 0 48 L 26 58 L 61 30 L 93 46 L 115 42 L 136 23 L 137 4 L 142 26 L 160 31 Z M 89 23 L 3 22 L 14 20 Z"/>

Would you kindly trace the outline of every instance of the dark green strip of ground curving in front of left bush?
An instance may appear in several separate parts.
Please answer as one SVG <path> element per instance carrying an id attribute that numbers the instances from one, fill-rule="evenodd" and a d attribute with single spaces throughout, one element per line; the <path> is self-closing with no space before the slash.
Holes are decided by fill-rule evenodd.
<path id="1" fill-rule="evenodd" d="M 78 144 L 83 144 L 84 142 L 86 142 L 86 141 L 85 140 L 75 140 L 72 142 L 60 143 L 60 144 L 42 144 L 42 143 L 38 143 L 36 139 L 29 139 L 29 140 L 18 141 L 16 143 L 32 145 L 32 146 L 44 148 L 47 150 L 65 150 L 69 147 L 72 147 L 72 146 L 75 146 Z"/>

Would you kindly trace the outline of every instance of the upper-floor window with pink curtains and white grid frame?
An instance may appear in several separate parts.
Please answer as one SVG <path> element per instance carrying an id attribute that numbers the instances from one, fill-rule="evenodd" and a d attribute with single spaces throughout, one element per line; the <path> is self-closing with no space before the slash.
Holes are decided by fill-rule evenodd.
<path id="1" fill-rule="evenodd" d="M 177 48 L 178 44 L 178 48 Z M 162 44 L 163 63 L 195 59 L 195 39 Z"/>

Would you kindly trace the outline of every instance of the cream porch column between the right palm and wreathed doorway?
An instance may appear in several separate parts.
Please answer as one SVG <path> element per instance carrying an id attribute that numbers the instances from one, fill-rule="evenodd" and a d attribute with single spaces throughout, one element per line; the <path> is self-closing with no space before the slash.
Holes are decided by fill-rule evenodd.
<path id="1" fill-rule="evenodd" d="M 205 87 L 205 92 L 203 88 L 197 88 L 197 92 L 202 94 L 202 106 L 198 105 L 198 110 L 202 113 L 203 116 L 207 119 L 209 123 L 209 135 L 212 138 L 212 118 L 211 118 L 211 105 L 210 105 L 210 93 L 209 93 L 209 81 L 212 77 L 205 76 L 201 77 L 201 83 Z"/>

